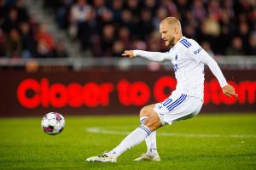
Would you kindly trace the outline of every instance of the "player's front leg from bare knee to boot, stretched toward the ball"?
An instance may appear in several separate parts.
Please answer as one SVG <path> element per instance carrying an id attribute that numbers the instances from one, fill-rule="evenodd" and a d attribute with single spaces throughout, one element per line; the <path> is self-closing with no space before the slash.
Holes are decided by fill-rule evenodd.
<path id="1" fill-rule="evenodd" d="M 115 162 L 117 157 L 124 153 L 126 150 L 130 150 L 133 146 L 140 144 L 146 139 L 151 132 L 161 127 L 162 123 L 160 117 L 156 112 L 153 112 L 148 119 L 143 122 L 140 127 L 137 127 L 133 132 L 131 132 L 117 147 L 115 147 L 110 152 L 103 154 L 101 156 L 92 156 L 86 161 L 102 161 L 102 162 Z"/>

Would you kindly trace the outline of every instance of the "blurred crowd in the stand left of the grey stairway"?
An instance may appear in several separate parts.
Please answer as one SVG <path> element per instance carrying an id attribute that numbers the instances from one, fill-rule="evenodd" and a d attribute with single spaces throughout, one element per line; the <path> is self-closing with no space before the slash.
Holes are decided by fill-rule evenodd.
<path id="1" fill-rule="evenodd" d="M 24 0 L 0 0 L 0 57 L 67 57 L 67 51 L 28 13 Z"/>

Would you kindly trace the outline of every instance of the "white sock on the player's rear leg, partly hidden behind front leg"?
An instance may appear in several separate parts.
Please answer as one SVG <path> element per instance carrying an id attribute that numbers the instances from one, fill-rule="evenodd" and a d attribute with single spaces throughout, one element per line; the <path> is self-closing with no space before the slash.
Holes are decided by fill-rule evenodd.
<path id="1" fill-rule="evenodd" d="M 140 122 L 143 123 L 148 119 L 148 116 L 141 116 Z M 156 155 L 157 148 L 156 148 L 156 131 L 153 131 L 150 133 L 150 135 L 145 139 L 145 142 L 147 144 L 147 154 L 149 155 Z"/>

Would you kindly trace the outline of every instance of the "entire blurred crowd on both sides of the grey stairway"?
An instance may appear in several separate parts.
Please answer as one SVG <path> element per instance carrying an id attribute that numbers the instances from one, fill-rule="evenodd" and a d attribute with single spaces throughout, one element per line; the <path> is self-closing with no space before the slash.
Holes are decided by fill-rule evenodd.
<path id="1" fill-rule="evenodd" d="M 0 55 L 66 57 L 44 24 L 28 16 L 23 0 L 0 0 Z M 256 55 L 255 0 L 44 0 L 60 29 L 95 57 L 119 56 L 125 49 L 167 51 L 160 20 L 175 16 L 183 35 L 210 54 Z"/>

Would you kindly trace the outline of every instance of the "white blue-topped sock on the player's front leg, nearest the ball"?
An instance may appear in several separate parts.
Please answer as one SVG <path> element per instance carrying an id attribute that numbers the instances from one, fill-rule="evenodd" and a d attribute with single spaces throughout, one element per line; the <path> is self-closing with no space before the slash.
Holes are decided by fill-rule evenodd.
<path id="1" fill-rule="evenodd" d="M 120 156 L 126 150 L 130 150 L 133 146 L 142 143 L 150 133 L 151 131 L 147 126 L 141 125 L 126 136 L 126 138 L 117 147 L 108 153 L 113 156 Z"/>

